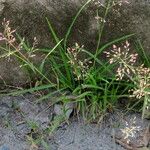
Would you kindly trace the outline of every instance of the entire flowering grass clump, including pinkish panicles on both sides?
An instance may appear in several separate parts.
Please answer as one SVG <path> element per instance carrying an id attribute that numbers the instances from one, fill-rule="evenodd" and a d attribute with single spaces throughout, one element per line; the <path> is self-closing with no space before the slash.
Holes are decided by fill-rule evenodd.
<path id="1" fill-rule="evenodd" d="M 97 47 L 94 53 L 86 50 L 84 46 L 75 43 L 68 47 L 68 38 L 73 25 L 83 9 L 91 2 L 88 0 L 77 12 L 76 16 L 68 28 L 64 39 L 59 39 L 54 31 L 51 22 L 46 18 L 50 33 L 52 34 L 56 45 L 48 50 L 38 49 L 36 47 L 36 38 L 30 47 L 26 44 L 25 39 L 20 38 L 19 44 L 15 37 L 15 30 L 11 30 L 9 21 L 4 20 L 4 33 L 1 40 L 5 41 L 5 51 L 2 57 L 11 55 L 18 58 L 23 68 L 33 72 L 33 76 L 38 76 L 35 85 L 30 89 L 15 91 L 11 94 L 22 94 L 46 89 L 47 95 L 42 95 L 38 102 L 59 93 L 61 98 L 51 102 L 61 103 L 62 105 L 73 102 L 76 114 L 82 114 L 83 118 L 88 121 L 100 121 L 101 116 L 106 112 L 112 111 L 120 98 L 130 97 L 130 92 L 138 99 L 144 98 L 143 116 L 147 108 L 149 98 L 149 68 L 144 65 L 135 67 L 137 54 L 129 55 L 129 43 L 126 42 L 123 51 L 118 48 L 117 43 L 121 43 L 132 37 L 134 34 L 119 37 L 104 45 L 101 44 L 103 29 L 107 23 L 107 15 L 114 5 L 120 3 L 108 0 L 100 8 L 104 9 L 104 16 L 99 19 L 99 36 Z M 98 14 L 98 10 L 97 10 Z M 105 52 L 110 60 L 101 60 L 101 54 L 113 45 L 111 52 Z M 45 53 L 40 65 L 35 64 L 32 58 L 37 52 Z M 83 58 L 84 56 L 84 58 Z M 83 58 L 83 59 L 82 59 Z M 114 74 L 115 64 L 119 64 L 117 74 Z M 51 80 L 53 77 L 53 80 Z M 128 78 L 130 82 L 126 82 Z M 49 89 L 49 90 L 48 90 Z M 54 92 L 52 92 L 52 90 Z M 67 92 L 66 92 L 67 91 Z M 72 96 L 68 96 L 70 93 Z"/>

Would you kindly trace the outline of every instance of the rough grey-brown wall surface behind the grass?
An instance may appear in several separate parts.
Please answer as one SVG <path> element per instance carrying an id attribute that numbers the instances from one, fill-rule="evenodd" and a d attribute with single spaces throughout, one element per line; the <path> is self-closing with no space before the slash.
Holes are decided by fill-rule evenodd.
<path id="1" fill-rule="evenodd" d="M 98 1 L 103 2 L 95 2 Z M 106 19 L 102 42 L 136 33 L 146 52 L 150 54 L 150 1 L 122 1 L 122 5 L 115 6 Z M 73 16 L 85 2 L 86 0 L 0 0 L 0 21 L 2 22 L 3 18 L 10 20 L 11 26 L 31 43 L 33 38 L 37 37 L 39 47 L 52 47 L 54 40 L 45 18 L 51 21 L 60 39 L 64 38 Z M 77 42 L 92 51 L 95 50 L 98 36 L 98 24 L 95 19 L 98 6 L 95 2 L 91 1 L 77 19 L 69 45 Z M 103 12 L 99 15 L 102 17 Z M 2 30 L 1 27 L 0 29 Z M 24 76 L 24 71 L 16 68 L 16 64 L 12 67 L 6 60 L 0 60 L 0 76 L 10 84 L 18 83 L 16 77 L 20 83 L 28 81 L 27 75 Z"/>

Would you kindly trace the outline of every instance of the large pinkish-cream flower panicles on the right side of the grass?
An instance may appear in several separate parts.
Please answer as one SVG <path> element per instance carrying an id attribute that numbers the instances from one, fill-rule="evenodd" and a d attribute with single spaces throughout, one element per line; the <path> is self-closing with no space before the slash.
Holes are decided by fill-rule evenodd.
<path id="1" fill-rule="evenodd" d="M 148 102 L 147 96 L 150 96 L 150 68 L 144 67 L 144 65 L 137 66 L 138 54 L 130 54 L 130 44 L 126 41 L 125 45 L 117 47 L 113 45 L 113 49 L 110 52 L 104 52 L 109 58 L 109 63 L 118 64 L 116 71 L 116 79 L 122 80 L 127 77 L 134 83 L 134 88 L 129 90 L 132 92 L 131 97 L 137 99 L 144 98 L 143 111 L 150 108 L 150 102 Z"/>

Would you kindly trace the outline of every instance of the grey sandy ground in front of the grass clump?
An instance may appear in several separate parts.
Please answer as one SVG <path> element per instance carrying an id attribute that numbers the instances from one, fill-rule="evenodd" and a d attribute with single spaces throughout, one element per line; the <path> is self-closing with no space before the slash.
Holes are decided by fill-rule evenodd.
<path id="1" fill-rule="evenodd" d="M 100 125 L 85 124 L 82 119 L 71 118 L 48 134 L 53 119 L 53 109 L 48 103 L 35 104 L 34 95 L 0 97 L 0 150 L 124 150 L 113 136 L 123 139 L 121 129 L 140 127 L 131 141 L 137 142 L 149 124 L 140 114 L 124 116 L 120 111 L 109 114 Z M 37 127 L 38 126 L 38 127 Z M 46 131 L 46 132 L 45 132 Z M 32 143 L 43 135 L 45 146 Z"/>

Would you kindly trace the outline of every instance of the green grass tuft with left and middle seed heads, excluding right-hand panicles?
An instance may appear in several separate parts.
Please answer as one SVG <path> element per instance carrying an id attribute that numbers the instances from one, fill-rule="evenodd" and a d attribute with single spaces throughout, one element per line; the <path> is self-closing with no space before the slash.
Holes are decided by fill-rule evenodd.
<path id="1" fill-rule="evenodd" d="M 115 65 L 110 64 L 109 60 L 107 62 L 102 61 L 100 56 L 113 44 L 121 43 L 131 38 L 134 34 L 119 37 L 102 45 L 101 38 L 105 23 L 107 22 L 101 22 L 101 20 L 99 20 L 99 37 L 97 49 L 94 54 L 78 43 L 68 47 L 68 39 L 72 27 L 81 12 L 90 2 L 91 0 L 87 0 L 79 9 L 64 39 L 60 39 L 57 36 L 51 21 L 46 18 L 50 34 L 56 44 L 53 48 L 49 49 L 38 49 L 36 47 L 36 38 L 34 39 L 33 45 L 29 46 L 26 44 L 24 38 L 17 35 L 17 38 L 20 40 L 20 43 L 17 43 L 14 35 L 15 31 L 11 30 L 9 22 L 4 21 L 3 25 L 5 31 L 3 36 L 6 46 L 0 47 L 5 51 L 5 54 L 0 58 L 15 56 L 23 68 L 32 72 L 33 76 L 38 76 L 38 81 L 30 89 L 13 91 L 9 93 L 9 95 L 24 94 L 26 92 L 32 93 L 49 89 L 48 94 L 40 97 L 37 101 L 38 103 L 56 93 L 61 93 L 61 97 L 58 100 L 51 102 L 52 105 L 58 102 L 64 104 L 66 100 L 68 102 L 74 102 L 76 104 L 74 108 L 75 113 L 77 115 L 81 114 L 85 120 L 90 121 L 99 120 L 99 118 L 105 115 L 109 110 L 113 110 L 119 98 L 129 96 L 127 91 L 131 87 L 130 84 L 124 81 L 118 82 L 113 72 Z M 102 20 L 106 20 L 113 5 L 112 0 L 108 0 L 105 3 L 103 6 L 105 12 Z M 8 28 L 10 30 L 7 30 Z M 40 65 L 32 61 L 32 57 L 35 57 L 36 52 L 43 52 L 45 54 Z M 86 55 L 84 60 L 80 59 L 82 55 Z M 54 80 L 51 80 L 51 76 Z M 55 92 L 52 92 L 52 90 Z M 73 97 L 68 97 L 68 94 L 65 94 L 65 92 L 70 93 Z"/>

